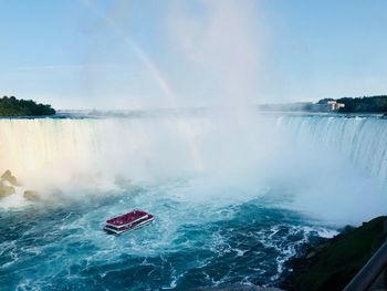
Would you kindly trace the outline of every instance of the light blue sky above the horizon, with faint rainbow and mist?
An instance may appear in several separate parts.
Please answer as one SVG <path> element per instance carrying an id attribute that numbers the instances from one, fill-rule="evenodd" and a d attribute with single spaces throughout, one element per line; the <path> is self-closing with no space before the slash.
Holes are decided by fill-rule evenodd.
<path id="1" fill-rule="evenodd" d="M 384 0 L 0 0 L 0 94 L 59 108 L 387 94 Z"/>

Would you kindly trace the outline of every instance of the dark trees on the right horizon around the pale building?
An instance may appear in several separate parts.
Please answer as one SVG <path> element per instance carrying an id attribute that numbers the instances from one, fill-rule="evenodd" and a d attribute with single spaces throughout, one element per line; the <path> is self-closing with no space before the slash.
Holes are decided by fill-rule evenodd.
<path id="1" fill-rule="evenodd" d="M 318 101 L 318 104 L 332 101 L 325 98 Z M 387 95 L 364 96 L 364 97 L 343 97 L 336 100 L 338 103 L 344 103 L 345 106 L 339 108 L 339 113 L 387 113 Z"/>

